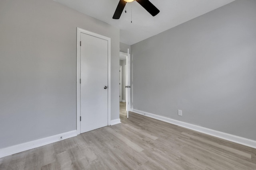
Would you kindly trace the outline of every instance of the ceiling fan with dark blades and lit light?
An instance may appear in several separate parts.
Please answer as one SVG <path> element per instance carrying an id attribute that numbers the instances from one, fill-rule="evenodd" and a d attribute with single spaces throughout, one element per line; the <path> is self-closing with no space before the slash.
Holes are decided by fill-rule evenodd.
<path id="1" fill-rule="evenodd" d="M 134 0 L 120 0 L 116 11 L 114 13 L 113 19 L 119 19 L 124 7 L 127 2 L 133 2 Z M 149 1 L 149 0 L 136 0 L 145 10 L 147 10 L 152 16 L 156 16 L 160 11 Z"/>

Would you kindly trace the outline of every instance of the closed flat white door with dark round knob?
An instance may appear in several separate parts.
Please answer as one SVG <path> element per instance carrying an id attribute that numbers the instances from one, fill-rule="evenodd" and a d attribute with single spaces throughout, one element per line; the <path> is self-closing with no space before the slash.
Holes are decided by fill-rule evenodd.
<path id="1" fill-rule="evenodd" d="M 108 41 L 81 33 L 81 133 L 108 125 Z"/>

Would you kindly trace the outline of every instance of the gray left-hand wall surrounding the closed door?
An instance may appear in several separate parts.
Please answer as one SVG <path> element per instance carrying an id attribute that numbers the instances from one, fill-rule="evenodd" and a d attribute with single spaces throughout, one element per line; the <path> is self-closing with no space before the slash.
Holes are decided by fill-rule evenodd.
<path id="1" fill-rule="evenodd" d="M 119 118 L 119 29 L 53 0 L 1 0 L 0 148 L 76 130 L 76 27 L 111 38 Z"/>

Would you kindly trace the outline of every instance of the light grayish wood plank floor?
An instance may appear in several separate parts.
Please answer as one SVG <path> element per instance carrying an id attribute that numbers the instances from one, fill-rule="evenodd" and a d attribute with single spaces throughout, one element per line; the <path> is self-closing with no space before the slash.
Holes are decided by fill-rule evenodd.
<path id="1" fill-rule="evenodd" d="M 122 123 L 0 158 L 0 170 L 256 170 L 256 149 L 120 107 Z"/>

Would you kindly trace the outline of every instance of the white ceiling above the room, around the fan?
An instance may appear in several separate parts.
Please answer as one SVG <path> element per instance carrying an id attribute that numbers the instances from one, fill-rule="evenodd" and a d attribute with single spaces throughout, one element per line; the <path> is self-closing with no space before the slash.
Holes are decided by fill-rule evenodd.
<path id="1" fill-rule="evenodd" d="M 150 0 L 160 10 L 154 17 L 134 1 L 126 4 L 127 13 L 123 11 L 119 20 L 112 19 L 119 0 L 54 1 L 118 27 L 120 42 L 132 45 L 234 0 Z"/>

